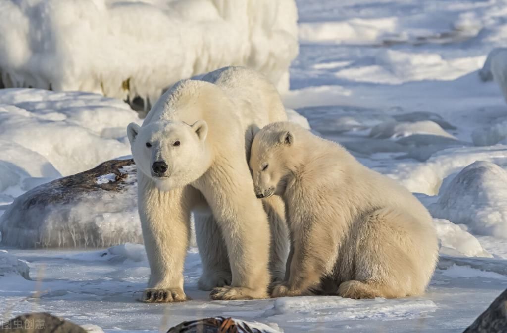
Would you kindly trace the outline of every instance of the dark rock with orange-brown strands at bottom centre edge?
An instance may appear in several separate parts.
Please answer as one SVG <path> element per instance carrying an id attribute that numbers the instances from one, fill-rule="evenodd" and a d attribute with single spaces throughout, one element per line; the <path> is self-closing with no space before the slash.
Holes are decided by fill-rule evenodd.
<path id="1" fill-rule="evenodd" d="M 169 328 L 167 333 L 268 333 L 268 331 L 250 327 L 243 321 L 232 318 L 215 317 L 184 321 Z M 270 331 L 272 332 L 272 331 Z"/>

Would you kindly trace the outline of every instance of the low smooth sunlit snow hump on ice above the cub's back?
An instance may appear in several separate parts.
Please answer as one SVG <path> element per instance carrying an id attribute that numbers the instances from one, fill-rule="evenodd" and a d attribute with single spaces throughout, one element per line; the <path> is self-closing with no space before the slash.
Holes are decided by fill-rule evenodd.
<path id="1" fill-rule="evenodd" d="M 414 134 L 426 134 L 455 139 L 440 127 L 439 124 L 430 120 L 415 122 L 388 121 L 374 126 L 370 131 L 370 137 L 376 139 L 408 137 Z"/>

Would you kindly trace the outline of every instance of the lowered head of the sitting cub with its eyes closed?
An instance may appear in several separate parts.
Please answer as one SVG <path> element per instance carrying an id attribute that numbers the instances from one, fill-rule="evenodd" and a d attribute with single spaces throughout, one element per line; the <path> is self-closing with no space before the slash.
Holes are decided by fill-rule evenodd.
<path id="1" fill-rule="evenodd" d="M 281 195 L 291 175 L 295 136 L 288 123 L 272 123 L 257 132 L 250 150 L 250 169 L 258 198 Z"/>

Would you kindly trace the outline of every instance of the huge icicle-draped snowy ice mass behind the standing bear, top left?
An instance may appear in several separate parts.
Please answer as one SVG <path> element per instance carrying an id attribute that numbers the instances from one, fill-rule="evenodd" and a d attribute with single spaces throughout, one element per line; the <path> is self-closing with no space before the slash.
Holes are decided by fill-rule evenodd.
<path id="1" fill-rule="evenodd" d="M 180 79 L 234 64 L 288 90 L 298 54 L 294 0 L 7 0 L 1 8 L 6 87 L 140 96 L 153 104 Z"/>

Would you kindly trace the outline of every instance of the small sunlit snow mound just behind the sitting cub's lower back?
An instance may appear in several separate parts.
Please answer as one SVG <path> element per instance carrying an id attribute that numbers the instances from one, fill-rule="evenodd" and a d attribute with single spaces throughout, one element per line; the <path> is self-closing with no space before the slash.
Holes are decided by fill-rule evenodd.
<path id="1" fill-rule="evenodd" d="M 467 257 L 491 257 L 479 240 L 466 231 L 466 226 L 445 219 L 433 219 L 440 241 L 440 253 Z"/>

